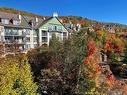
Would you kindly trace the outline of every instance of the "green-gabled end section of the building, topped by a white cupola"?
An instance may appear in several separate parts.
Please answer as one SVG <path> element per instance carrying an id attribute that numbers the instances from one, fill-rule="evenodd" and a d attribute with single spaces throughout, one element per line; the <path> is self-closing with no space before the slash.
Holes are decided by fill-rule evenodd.
<path id="1" fill-rule="evenodd" d="M 49 45 L 52 35 L 55 34 L 60 41 L 68 37 L 68 30 L 64 27 L 63 23 L 58 19 L 56 13 L 52 17 L 46 19 L 38 27 L 39 33 L 39 46 L 43 44 Z"/>

